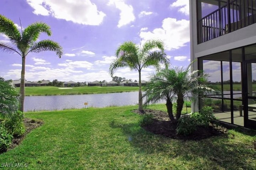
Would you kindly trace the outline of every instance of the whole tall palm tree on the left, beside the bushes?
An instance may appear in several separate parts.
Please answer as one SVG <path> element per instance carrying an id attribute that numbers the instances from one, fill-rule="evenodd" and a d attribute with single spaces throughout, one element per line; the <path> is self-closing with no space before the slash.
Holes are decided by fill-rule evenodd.
<path id="1" fill-rule="evenodd" d="M 40 33 L 46 33 L 50 36 L 50 26 L 46 23 L 36 22 L 26 27 L 21 32 L 12 20 L 0 15 L 0 33 L 5 34 L 11 44 L 0 42 L 0 49 L 10 53 L 18 53 L 22 58 L 21 80 L 20 80 L 20 111 L 24 111 L 25 98 L 25 61 L 30 52 L 40 53 L 42 51 L 54 51 L 60 58 L 62 56 L 62 47 L 55 41 L 42 40 L 37 41 Z"/>

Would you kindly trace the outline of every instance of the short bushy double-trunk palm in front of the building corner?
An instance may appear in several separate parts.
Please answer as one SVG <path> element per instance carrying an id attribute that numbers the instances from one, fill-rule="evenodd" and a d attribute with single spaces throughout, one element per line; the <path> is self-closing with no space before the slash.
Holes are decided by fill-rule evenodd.
<path id="1" fill-rule="evenodd" d="M 192 63 L 191 63 L 192 64 Z M 170 120 L 173 121 L 172 102 L 176 99 L 176 120 L 181 116 L 184 100 L 198 102 L 205 94 L 219 94 L 216 87 L 207 81 L 208 74 L 190 70 L 187 67 L 164 68 L 150 77 L 146 88 L 145 104 L 166 100 L 166 107 Z"/>

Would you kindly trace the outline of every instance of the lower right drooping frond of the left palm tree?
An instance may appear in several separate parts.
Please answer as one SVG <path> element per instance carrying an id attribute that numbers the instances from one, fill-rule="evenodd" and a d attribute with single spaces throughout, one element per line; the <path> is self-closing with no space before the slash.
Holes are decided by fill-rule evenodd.
<path id="1" fill-rule="evenodd" d="M 42 40 L 31 45 L 26 55 L 30 52 L 40 53 L 42 51 L 54 51 L 59 58 L 63 54 L 63 49 L 57 42 L 52 40 Z"/>

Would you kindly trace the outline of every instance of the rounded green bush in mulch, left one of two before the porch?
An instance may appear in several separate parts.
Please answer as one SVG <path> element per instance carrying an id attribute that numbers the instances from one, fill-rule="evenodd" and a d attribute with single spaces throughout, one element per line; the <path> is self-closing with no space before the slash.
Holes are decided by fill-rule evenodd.
<path id="1" fill-rule="evenodd" d="M 196 123 L 194 122 L 194 119 L 188 115 L 180 117 L 176 128 L 177 134 L 186 136 L 190 135 L 194 131 L 196 131 Z"/>

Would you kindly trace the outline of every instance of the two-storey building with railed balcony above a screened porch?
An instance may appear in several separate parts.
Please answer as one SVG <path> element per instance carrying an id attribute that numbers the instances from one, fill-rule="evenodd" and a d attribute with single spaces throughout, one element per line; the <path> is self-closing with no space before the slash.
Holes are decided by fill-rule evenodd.
<path id="1" fill-rule="evenodd" d="M 192 70 L 220 84 L 192 111 L 211 106 L 219 121 L 256 129 L 256 0 L 190 0 Z"/>

